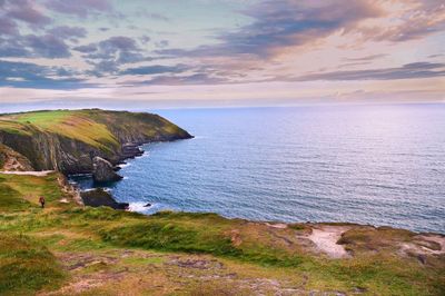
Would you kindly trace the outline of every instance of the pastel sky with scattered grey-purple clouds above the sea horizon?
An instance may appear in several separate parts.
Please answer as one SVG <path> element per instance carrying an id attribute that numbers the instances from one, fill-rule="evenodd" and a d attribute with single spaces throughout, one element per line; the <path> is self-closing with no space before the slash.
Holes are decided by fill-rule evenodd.
<path id="1" fill-rule="evenodd" d="M 445 102 L 444 0 L 0 0 L 0 111 Z"/>

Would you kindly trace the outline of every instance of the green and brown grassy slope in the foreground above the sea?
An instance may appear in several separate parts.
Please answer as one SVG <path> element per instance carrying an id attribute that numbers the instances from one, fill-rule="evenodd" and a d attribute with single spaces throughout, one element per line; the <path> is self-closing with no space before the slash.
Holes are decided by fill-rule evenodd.
<path id="1" fill-rule="evenodd" d="M 445 293 L 444 256 L 421 264 L 395 250 L 396 241 L 412 239 L 409 231 L 353 228 L 343 243 L 354 257 L 329 259 L 297 239 L 308 225 L 278 229 L 214 214 L 83 209 L 58 201 L 65 194 L 57 175 L 0 177 L 0 294 Z M 44 210 L 40 194 L 49 201 Z"/>

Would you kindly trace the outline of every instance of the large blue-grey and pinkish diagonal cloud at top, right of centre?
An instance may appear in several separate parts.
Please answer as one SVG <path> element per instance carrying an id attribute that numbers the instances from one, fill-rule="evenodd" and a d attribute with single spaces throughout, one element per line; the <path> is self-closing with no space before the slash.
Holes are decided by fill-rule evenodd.
<path id="1" fill-rule="evenodd" d="M 382 14 L 372 1 L 343 0 L 296 1 L 267 0 L 244 13 L 254 21 L 235 32 L 217 36 L 216 46 L 196 50 L 158 51 L 178 56 L 234 56 L 244 55 L 267 59 L 275 50 L 304 46 L 336 31 L 347 31 L 356 23 Z"/>

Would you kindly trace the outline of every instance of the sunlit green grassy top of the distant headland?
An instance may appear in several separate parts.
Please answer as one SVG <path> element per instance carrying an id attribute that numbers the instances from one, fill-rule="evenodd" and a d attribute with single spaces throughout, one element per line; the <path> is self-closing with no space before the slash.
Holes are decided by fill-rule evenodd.
<path id="1" fill-rule="evenodd" d="M 32 128 L 77 139 L 102 150 L 118 147 L 112 130 L 138 130 L 148 137 L 186 135 L 168 120 L 148 114 L 86 110 L 33 111 L 0 116 L 0 130 L 32 135 Z"/>

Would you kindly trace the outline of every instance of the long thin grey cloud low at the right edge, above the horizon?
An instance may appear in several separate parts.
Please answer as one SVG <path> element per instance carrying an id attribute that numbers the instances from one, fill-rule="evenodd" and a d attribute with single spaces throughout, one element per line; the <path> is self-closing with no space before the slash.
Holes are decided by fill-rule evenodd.
<path id="1" fill-rule="evenodd" d="M 432 77 L 445 77 L 445 63 L 413 62 L 398 68 L 313 73 L 298 77 L 295 80 L 393 80 Z"/>

